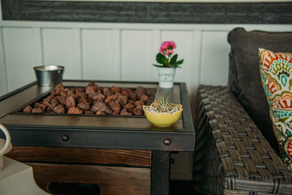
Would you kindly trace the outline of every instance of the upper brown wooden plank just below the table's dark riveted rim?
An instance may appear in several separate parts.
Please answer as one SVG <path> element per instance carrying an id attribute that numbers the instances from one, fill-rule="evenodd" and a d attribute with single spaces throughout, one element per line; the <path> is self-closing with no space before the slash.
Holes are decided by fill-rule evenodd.
<path id="1" fill-rule="evenodd" d="M 151 151 L 13 146 L 5 156 L 16 161 L 124 164 L 151 167 Z"/>

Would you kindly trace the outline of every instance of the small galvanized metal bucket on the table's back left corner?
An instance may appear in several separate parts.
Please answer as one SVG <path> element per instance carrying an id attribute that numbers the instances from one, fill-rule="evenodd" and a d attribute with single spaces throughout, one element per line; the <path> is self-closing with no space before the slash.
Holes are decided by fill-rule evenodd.
<path id="1" fill-rule="evenodd" d="M 37 84 L 54 86 L 62 82 L 64 67 L 58 65 L 45 65 L 34 67 Z"/>

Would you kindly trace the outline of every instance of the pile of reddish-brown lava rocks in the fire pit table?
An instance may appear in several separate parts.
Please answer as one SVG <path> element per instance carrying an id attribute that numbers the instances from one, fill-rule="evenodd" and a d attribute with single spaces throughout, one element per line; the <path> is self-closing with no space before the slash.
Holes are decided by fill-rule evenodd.
<path id="1" fill-rule="evenodd" d="M 58 84 L 43 101 L 27 106 L 26 113 L 68 113 L 97 115 L 143 115 L 143 105 L 151 89 L 99 87 L 94 82 L 86 88 L 64 88 Z"/>

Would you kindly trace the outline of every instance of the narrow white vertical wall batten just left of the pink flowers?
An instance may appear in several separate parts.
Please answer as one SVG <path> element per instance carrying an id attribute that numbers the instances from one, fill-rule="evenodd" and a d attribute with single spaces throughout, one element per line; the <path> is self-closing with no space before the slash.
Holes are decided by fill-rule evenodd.
<path id="1" fill-rule="evenodd" d="M 157 67 L 152 64 L 158 64 L 156 61 L 156 55 L 159 52 L 161 44 L 161 30 L 152 30 L 152 49 L 151 49 L 151 80 L 154 82 L 158 82 L 158 71 Z"/>

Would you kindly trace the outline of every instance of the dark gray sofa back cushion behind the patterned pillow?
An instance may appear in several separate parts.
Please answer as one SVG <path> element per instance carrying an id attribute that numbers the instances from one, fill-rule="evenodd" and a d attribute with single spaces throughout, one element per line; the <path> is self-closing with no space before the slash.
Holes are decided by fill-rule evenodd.
<path id="1" fill-rule="evenodd" d="M 280 31 L 281 29 L 279 29 Z M 235 28 L 228 34 L 231 45 L 229 87 L 238 97 L 272 148 L 279 154 L 269 105 L 260 80 L 258 48 L 292 52 L 292 32 L 246 32 Z"/>

